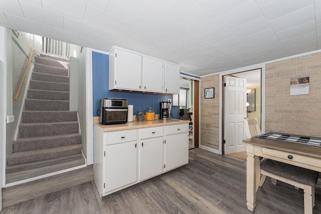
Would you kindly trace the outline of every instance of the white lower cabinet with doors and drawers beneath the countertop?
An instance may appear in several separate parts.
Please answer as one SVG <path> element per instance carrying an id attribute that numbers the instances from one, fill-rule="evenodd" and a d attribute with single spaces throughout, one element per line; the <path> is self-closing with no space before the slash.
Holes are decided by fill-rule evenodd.
<path id="1" fill-rule="evenodd" d="M 100 197 L 187 164 L 188 140 L 188 123 L 110 132 L 95 125 Z"/>

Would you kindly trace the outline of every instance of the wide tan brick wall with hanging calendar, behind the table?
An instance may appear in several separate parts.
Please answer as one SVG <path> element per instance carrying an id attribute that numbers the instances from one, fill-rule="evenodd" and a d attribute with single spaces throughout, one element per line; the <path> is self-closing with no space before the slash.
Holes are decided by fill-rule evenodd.
<path id="1" fill-rule="evenodd" d="M 266 64 L 265 131 L 321 137 L 321 53 Z M 290 96 L 290 78 L 309 77 L 309 94 Z"/>

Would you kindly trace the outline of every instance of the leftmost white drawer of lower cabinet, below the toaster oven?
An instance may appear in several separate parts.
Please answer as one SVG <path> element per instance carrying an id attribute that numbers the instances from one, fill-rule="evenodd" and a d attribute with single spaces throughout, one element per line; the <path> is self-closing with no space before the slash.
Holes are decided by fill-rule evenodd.
<path id="1" fill-rule="evenodd" d="M 135 141 L 136 138 L 137 138 L 136 129 L 106 132 L 106 145 Z"/>

